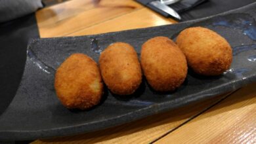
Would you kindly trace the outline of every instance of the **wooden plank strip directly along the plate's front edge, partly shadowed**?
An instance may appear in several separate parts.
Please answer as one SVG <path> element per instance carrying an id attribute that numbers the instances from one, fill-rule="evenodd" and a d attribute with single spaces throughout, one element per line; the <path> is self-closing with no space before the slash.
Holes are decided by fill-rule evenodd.
<path id="1" fill-rule="evenodd" d="M 44 139 L 38 143 L 150 143 L 202 113 L 228 94 L 150 117 L 88 134 Z"/>

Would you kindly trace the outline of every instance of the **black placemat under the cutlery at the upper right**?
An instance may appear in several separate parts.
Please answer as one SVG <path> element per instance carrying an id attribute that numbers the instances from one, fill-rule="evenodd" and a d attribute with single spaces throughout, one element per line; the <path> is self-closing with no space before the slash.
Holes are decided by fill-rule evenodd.
<path id="1" fill-rule="evenodd" d="M 146 1 L 152 1 L 152 0 L 136 0 L 139 3 L 142 3 L 143 5 L 145 5 Z M 181 18 L 182 21 L 186 21 L 186 20 L 195 20 L 198 18 L 204 18 L 207 16 L 213 16 L 215 14 L 219 14 L 222 12 L 226 12 L 228 10 L 232 10 L 232 9 L 237 9 L 239 7 L 243 7 L 245 5 L 249 5 L 250 3 L 255 2 L 255 0 L 209 0 L 209 1 L 205 1 L 204 3 L 186 10 L 184 12 L 180 12 L 179 14 L 181 14 Z M 175 4 L 174 4 L 175 5 Z M 173 5 L 173 9 L 176 9 Z M 172 5 L 170 5 L 170 7 L 172 7 Z M 150 6 L 150 9 L 152 9 L 152 7 Z M 157 9 L 153 9 L 157 12 Z M 161 12 L 161 14 L 163 16 L 167 16 L 167 14 L 165 12 Z"/>

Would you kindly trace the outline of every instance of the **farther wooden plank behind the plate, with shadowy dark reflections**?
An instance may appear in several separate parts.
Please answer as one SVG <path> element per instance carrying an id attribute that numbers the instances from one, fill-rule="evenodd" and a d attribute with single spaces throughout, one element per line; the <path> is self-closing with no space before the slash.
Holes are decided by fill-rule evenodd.
<path id="1" fill-rule="evenodd" d="M 60 37 L 141 9 L 131 0 L 73 0 L 36 12 L 41 37 Z"/>

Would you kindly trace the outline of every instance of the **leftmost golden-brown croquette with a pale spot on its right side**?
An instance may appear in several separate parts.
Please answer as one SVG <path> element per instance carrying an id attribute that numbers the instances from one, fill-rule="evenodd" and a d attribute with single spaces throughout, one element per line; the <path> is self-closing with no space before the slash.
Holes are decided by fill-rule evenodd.
<path id="1" fill-rule="evenodd" d="M 72 54 L 58 67 L 54 87 L 68 109 L 89 109 L 100 102 L 103 93 L 100 70 L 85 54 Z"/>

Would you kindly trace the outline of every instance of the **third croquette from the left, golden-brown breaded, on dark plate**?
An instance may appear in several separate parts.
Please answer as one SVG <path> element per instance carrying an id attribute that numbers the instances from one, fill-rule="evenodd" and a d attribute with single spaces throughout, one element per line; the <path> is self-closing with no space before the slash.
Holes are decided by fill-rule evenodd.
<path id="1" fill-rule="evenodd" d="M 186 58 L 167 37 L 154 37 L 142 45 L 142 71 L 150 86 L 161 92 L 175 90 L 186 78 Z"/>

